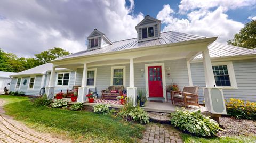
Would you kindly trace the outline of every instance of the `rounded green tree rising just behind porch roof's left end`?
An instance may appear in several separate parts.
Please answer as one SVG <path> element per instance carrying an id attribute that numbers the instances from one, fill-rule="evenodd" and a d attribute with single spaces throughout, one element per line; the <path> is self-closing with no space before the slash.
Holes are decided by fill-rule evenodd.
<path id="1" fill-rule="evenodd" d="M 65 51 L 65 49 L 54 47 L 53 49 L 48 49 L 47 51 L 43 51 L 40 54 L 35 54 L 35 59 L 38 60 L 39 63 L 45 64 L 51 60 L 54 60 L 55 58 L 59 58 L 69 54 L 70 53 L 68 51 Z"/>

